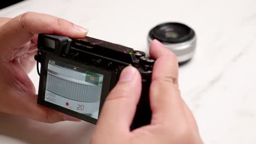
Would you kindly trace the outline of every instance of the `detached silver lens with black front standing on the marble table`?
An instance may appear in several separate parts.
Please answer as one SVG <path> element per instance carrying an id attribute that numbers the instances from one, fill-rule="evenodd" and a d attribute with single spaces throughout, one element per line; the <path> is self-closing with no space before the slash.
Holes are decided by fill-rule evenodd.
<path id="1" fill-rule="evenodd" d="M 195 52 L 196 34 L 182 23 L 168 22 L 155 26 L 148 34 L 148 44 L 154 39 L 173 51 L 179 64 L 188 62 Z"/>

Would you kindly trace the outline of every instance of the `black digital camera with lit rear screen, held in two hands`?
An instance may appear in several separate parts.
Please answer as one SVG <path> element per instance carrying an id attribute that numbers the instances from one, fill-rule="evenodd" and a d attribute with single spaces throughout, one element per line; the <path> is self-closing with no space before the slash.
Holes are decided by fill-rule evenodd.
<path id="1" fill-rule="evenodd" d="M 149 86 L 154 59 L 144 52 L 91 37 L 71 39 L 49 34 L 38 35 L 38 50 L 38 104 L 96 124 L 121 70 L 132 65 L 141 73 L 142 93 L 131 129 L 150 123 Z"/>

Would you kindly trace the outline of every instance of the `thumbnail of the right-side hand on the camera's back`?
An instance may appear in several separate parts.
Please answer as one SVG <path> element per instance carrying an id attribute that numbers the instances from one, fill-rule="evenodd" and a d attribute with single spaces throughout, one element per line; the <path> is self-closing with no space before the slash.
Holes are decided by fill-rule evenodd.
<path id="1" fill-rule="evenodd" d="M 133 77 L 135 76 L 136 69 L 133 68 L 132 66 L 126 67 L 123 69 L 120 77 L 119 77 L 119 82 L 123 81 L 131 81 Z"/>

